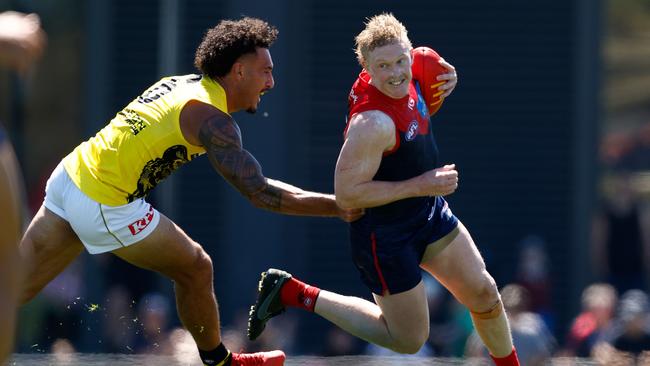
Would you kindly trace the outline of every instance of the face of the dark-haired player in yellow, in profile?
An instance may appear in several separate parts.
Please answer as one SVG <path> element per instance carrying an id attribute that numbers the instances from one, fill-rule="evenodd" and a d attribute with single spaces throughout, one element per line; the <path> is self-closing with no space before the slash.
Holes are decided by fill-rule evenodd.
<path id="1" fill-rule="evenodd" d="M 273 88 L 273 60 L 266 48 L 258 48 L 255 54 L 245 55 L 241 60 L 242 68 L 242 103 L 246 112 L 255 113 L 260 97 Z"/>

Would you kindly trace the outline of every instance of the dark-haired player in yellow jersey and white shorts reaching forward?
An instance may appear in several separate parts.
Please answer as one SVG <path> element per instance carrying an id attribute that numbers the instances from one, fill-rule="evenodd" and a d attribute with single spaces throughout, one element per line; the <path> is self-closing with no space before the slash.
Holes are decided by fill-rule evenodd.
<path id="1" fill-rule="evenodd" d="M 145 201 L 178 166 L 207 153 L 215 170 L 256 207 L 346 221 L 360 216 L 340 210 L 333 195 L 266 178 L 242 147 L 231 113 L 254 112 L 273 87 L 269 47 L 276 37 L 277 30 L 259 19 L 220 22 L 196 51 L 201 75 L 164 78 L 63 159 L 21 242 L 27 261 L 22 301 L 84 247 L 91 254 L 112 252 L 174 281 L 178 315 L 205 365 L 284 363 L 282 351 L 231 353 L 221 343 L 210 257 Z"/>

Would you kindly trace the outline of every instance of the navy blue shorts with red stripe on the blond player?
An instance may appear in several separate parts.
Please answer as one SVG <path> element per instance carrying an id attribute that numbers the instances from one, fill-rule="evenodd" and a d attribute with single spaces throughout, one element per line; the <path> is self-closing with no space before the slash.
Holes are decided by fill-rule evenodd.
<path id="1" fill-rule="evenodd" d="M 373 223 L 372 214 L 366 214 L 350 225 L 352 260 L 373 293 L 408 291 L 422 280 L 420 262 L 427 246 L 457 227 L 458 219 L 442 197 L 431 197 L 419 212 L 394 224 Z"/>

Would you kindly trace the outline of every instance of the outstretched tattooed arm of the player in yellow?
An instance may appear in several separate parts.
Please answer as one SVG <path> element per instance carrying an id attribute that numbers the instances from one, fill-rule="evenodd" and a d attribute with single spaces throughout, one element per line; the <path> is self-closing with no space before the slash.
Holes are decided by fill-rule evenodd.
<path id="1" fill-rule="evenodd" d="M 256 207 L 292 215 L 340 216 L 333 195 L 304 191 L 268 179 L 253 155 L 242 148 L 241 131 L 223 112 L 207 118 L 200 127 L 199 139 L 212 166 Z"/>

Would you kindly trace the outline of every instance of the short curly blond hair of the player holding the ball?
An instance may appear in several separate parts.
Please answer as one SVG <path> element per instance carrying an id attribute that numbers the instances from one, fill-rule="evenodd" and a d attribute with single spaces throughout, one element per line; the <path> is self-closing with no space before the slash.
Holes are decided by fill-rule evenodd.
<path id="1" fill-rule="evenodd" d="M 409 49 L 412 48 L 406 27 L 392 13 L 383 13 L 368 18 L 366 27 L 354 40 L 357 60 L 363 67 L 365 67 L 368 54 L 377 47 L 402 43 Z"/>

